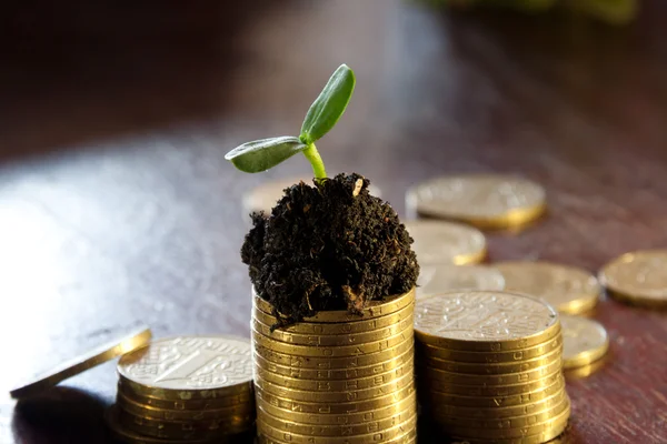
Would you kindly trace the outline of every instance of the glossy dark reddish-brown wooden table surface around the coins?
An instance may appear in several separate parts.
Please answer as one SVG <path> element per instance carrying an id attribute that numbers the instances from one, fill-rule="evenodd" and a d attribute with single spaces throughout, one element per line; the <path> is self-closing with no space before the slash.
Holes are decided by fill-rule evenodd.
<path id="1" fill-rule="evenodd" d="M 665 2 L 624 29 L 398 0 L 226 3 L 0 19 L 0 443 L 104 442 L 113 363 L 29 403 L 7 390 L 138 322 L 249 335 L 241 196 L 308 164 L 250 175 L 223 154 L 296 133 L 341 62 L 357 91 L 320 152 L 401 215 L 424 179 L 515 173 L 545 185 L 550 212 L 491 233 L 491 261 L 596 271 L 667 246 Z M 610 357 L 568 381 L 563 442 L 666 443 L 667 314 L 606 299 L 595 317 Z"/>

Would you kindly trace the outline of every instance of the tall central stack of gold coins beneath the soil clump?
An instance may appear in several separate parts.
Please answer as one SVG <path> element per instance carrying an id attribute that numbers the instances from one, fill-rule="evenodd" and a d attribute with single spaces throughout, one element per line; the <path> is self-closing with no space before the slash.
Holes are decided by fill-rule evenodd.
<path id="1" fill-rule="evenodd" d="M 253 301 L 260 443 L 416 442 L 414 290 L 275 330 L 272 306 Z"/>

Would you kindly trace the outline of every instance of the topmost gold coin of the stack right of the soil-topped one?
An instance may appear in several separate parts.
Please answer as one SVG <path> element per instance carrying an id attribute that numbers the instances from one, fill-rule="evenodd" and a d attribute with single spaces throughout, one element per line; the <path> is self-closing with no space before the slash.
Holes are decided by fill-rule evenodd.
<path id="1" fill-rule="evenodd" d="M 415 306 L 417 341 L 466 352 L 504 352 L 558 335 L 558 314 L 545 302 L 506 292 L 467 291 L 425 297 Z"/>

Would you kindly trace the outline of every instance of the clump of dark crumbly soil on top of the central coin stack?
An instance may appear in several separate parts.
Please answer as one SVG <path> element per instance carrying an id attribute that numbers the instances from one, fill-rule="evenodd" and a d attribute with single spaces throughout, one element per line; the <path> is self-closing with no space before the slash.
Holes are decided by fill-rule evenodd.
<path id="1" fill-rule="evenodd" d="M 322 310 L 360 313 L 369 301 L 409 291 L 419 265 L 389 203 L 359 174 L 285 190 L 271 215 L 251 214 L 241 259 L 277 325 Z"/>

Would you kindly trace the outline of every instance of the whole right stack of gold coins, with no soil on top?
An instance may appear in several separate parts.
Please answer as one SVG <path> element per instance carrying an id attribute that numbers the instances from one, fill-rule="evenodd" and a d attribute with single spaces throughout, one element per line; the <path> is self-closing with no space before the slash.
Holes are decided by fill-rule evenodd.
<path id="1" fill-rule="evenodd" d="M 545 443 L 570 415 L 556 311 L 490 291 L 425 297 L 415 307 L 422 413 L 468 443 Z"/>

